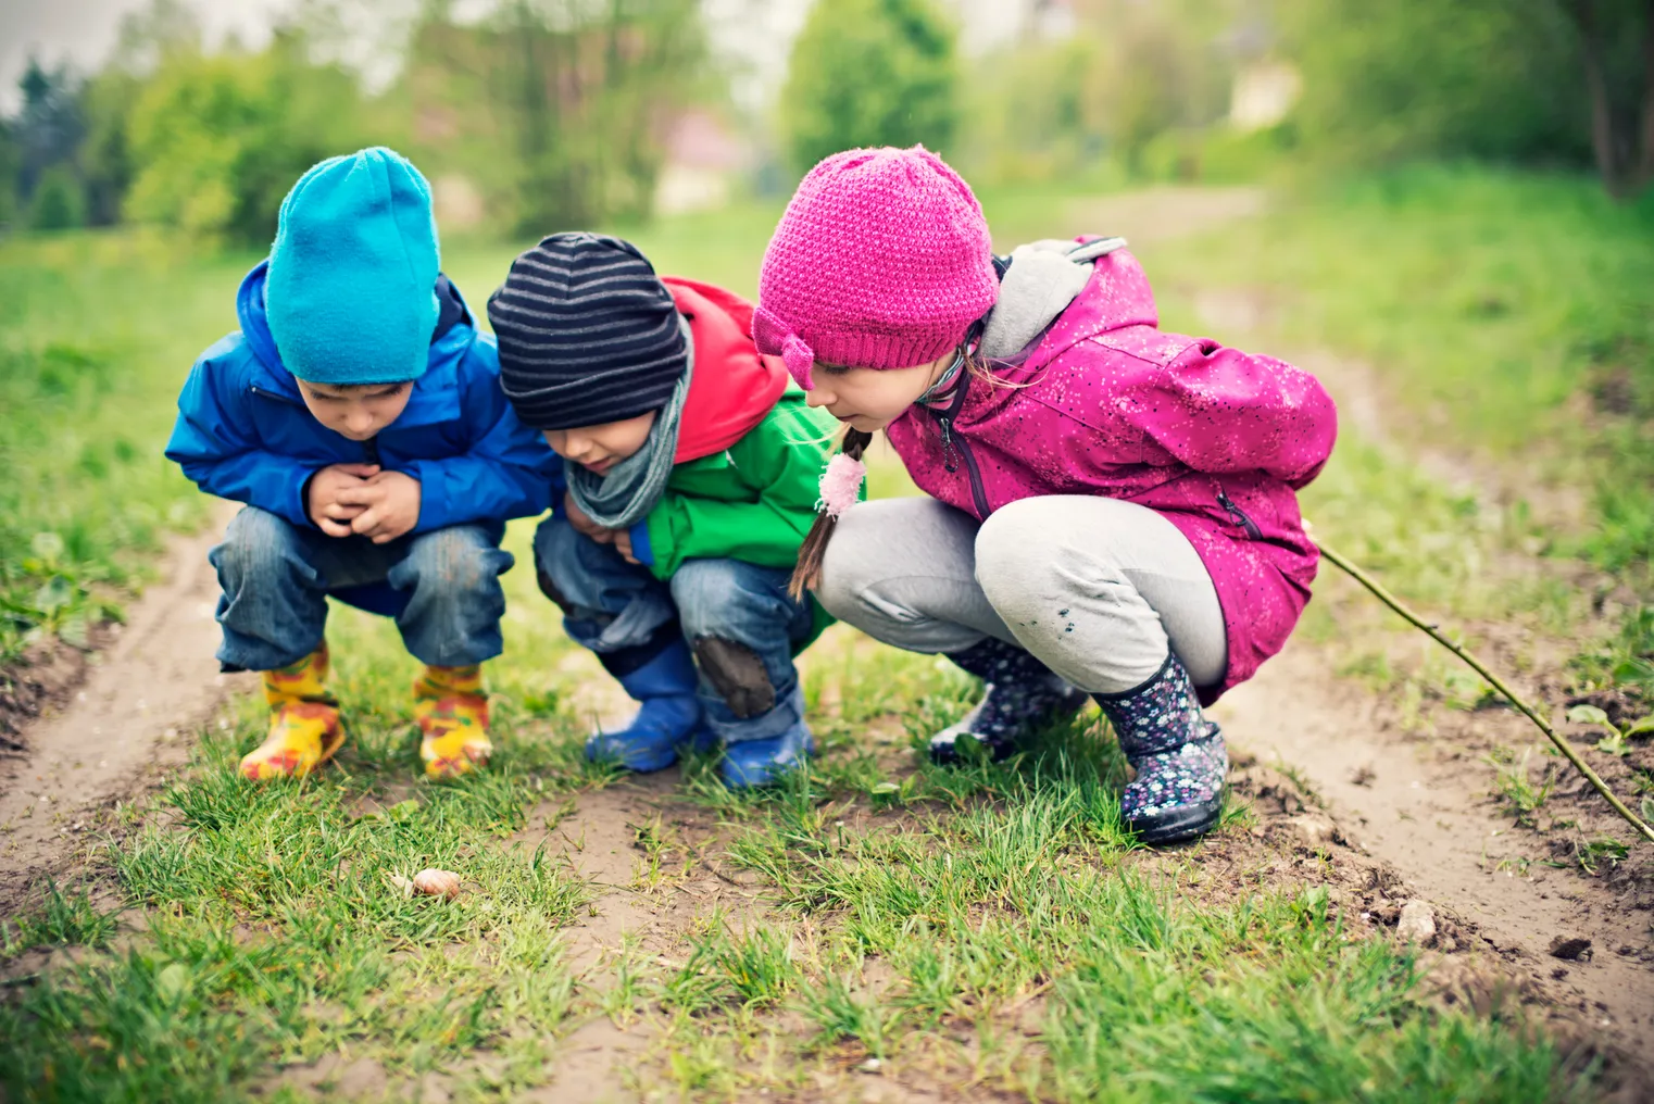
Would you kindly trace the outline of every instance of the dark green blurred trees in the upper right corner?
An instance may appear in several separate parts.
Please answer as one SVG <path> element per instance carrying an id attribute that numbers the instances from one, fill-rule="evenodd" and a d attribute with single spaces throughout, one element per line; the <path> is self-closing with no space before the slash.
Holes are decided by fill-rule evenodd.
<path id="1" fill-rule="evenodd" d="M 1277 0 L 1308 145 L 1589 164 L 1654 183 L 1654 0 Z"/>

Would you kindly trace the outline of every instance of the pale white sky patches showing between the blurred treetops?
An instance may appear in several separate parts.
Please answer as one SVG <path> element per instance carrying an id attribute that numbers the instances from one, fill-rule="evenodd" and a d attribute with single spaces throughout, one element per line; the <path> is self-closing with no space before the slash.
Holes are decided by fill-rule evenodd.
<path id="1" fill-rule="evenodd" d="M 354 13 L 369 83 L 389 79 L 394 68 L 370 64 L 382 59 L 382 35 L 375 30 L 412 0 L 361 0 L 347 3 Z M 756 107 L 781 86 L 786 76 L 786 45 L 797 35 L 810 0 L 703 0 L 708 23 L 719 50 L 736 59 L 734 94 L 738 102 Z M 1024 0 L 949 0 L 964 23 L 966 53 L 979 53 L 1021 25 Z M 30 53 L 45 64 L 68 61 L 81 73 L 98 69 L 119 33 L 121 17 L 142 10 L 149 0 L 0 0 L 0 114 L 18 107 L 17 83 Z M 270 38 L 270 26 L 294 0 L 192 0 L 200 15 L 207 43 L 213 46 L 228 35 L 258 48 Z M 481 15 L 491 0 L 460 0 L 457 15 Z"/>

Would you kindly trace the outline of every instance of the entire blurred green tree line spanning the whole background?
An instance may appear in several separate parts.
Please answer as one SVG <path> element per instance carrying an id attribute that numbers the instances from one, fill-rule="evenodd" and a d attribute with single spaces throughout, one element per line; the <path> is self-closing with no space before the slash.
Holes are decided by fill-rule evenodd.
<path id="1" fill-rule="evenodd" d="M 500 0 L 465 23 L 422 0 L 372 94 L 327 59 L 316 13 L 339 2 L 207 51 L 192 8 L 151 0 L 98 73 L 31 64 L 0 122 L 0 223 L 261 243 L 308 165 L 380 142 L 463 177 L 500 230 L 589 225 L 648 213 L 673 121 L 726 102 L 700 0 Z M 1654 0 L 1029 2 L 1025 33 L 964 58 L 946 0 L 815 0 L 754 129 L 792 172 L 925 142 L 984 182 L 1456 157 L 1594 167 L 1614 195 L 1654 180 Z M 1240 132 L 1259 66 L 1302 94 Z"/>

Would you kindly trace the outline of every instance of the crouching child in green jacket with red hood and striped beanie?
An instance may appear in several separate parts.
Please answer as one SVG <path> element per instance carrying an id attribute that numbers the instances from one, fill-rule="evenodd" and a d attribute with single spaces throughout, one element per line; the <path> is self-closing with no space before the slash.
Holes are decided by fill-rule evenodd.
<path id="1" fill-rule="evenodd" d="M 723 742 L 728 785 L 762 785 L 812 750 L 792 658 L 825 626 L 787 593 L 835 428 L 753 307 L 662 279 L 617 238 L 561 233 L 523 253 L 488 302 L 516 415 L 567 464 L 534 537 L 569 636 L 642 709 L 592 759 L 660 770 Z"/>

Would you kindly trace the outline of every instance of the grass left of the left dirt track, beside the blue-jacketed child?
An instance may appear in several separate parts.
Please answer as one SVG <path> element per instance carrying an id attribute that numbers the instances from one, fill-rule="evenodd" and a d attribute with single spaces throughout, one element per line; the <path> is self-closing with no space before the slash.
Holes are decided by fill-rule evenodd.
<path id="1" fill-rule="evenodd" d="M 84 645 L 162 534 L 205 517 L 160 448 L 241 268 L 146 235 L 0 245 L 0 664 Z"/>

